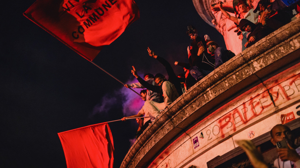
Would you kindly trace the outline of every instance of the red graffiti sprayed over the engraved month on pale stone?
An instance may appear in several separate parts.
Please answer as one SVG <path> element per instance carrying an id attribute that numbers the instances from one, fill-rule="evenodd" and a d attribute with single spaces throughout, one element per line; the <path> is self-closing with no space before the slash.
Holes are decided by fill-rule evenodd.
<path id="1" fill-rule="evenodd" d="M 289 101 L 293 97 L 300 94 L 300 74 L 296 74 L 286 80 L 279 82 L 274 80 L 273 84 L 269 86 L 268 91 L 264 91 L 257 94 L 238 107 L 234 108 L 227 114 L 223 115 L 217 120 L 220 135 L 222 138 L 229 131 L 236 132 L 236 127 L 247 124 L 250 120 L 256 118 L 258 115 L 266 112 L 268 107 L 274 107 L 282 102 Z M 290 114 L 290 113 L 289 113 Z M 291 117 L 294 118 L 291 118 Z M 294 114 L 292 116 L 286 116 L 285 123 L 295 119 Z M 211 131 L 207 131 L 210 140 Z"/>

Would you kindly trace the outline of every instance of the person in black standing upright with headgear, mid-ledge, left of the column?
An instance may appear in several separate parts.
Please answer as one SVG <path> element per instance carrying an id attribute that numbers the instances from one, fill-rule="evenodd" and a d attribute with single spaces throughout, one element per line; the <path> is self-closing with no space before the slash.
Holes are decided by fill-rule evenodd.
<path id="1" fill-rule="evenodd" d="M 206 41 L 210 40 L 208 35 L 198 36 L 195 27 L 188 26 L 188 34 L 191 37 L 191 44 L 188 46 L 188 60 L 190 74 L 197 80 L 201 80 L 214 70 L 214 57 L 207 52 Z"/>

